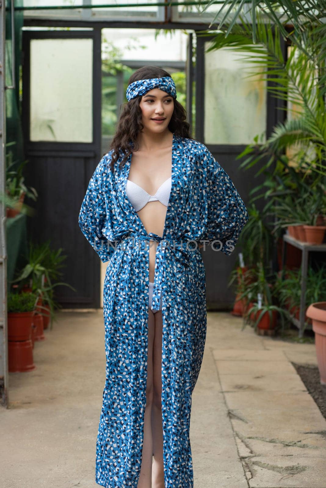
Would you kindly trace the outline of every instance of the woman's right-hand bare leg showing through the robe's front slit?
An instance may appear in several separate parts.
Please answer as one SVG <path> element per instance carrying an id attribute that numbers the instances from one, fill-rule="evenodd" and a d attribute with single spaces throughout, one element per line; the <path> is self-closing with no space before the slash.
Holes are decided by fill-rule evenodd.
<path id="1" fill-rule="evenodd" d="M 163 426 L 162 426 L 162 310 L 154 314 L 155 336 L 153 344 L 153 405 L 152 405 L 152 436 L 153 436 L 153 467 L 152 488 L 164 488 L 163 468 Z"/>

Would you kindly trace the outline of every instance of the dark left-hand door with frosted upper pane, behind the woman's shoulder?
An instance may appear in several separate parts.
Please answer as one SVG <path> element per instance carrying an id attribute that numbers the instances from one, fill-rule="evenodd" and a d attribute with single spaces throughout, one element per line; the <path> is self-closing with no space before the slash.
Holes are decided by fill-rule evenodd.
<path id="1" fill-rule="evenodd" d="M 64 307 L 98 307 L 100 264 L 78 224 L 101 154 L 101 30 L 23 31 L 24 168 L 38 199 L 28 219 L 33 244 L 66 256 L 55 288 Z"/>

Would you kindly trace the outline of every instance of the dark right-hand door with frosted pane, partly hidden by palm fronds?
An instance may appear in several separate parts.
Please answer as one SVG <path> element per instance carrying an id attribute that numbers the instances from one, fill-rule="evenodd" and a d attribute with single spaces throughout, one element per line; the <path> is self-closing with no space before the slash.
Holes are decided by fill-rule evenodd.
<path id="1" fill-rule="evenodd" d="M 265 175 L 254 177 L 258 167 L 240 170 L 236 156 L 254 142 L 256 134 L 262 134 L 259 141 L 265 142 L 285 112 L 277 110 L 281 102 L 266 93 L 264 80 L 256 76 L 245 79 L 245 71 L 250 68 L 252 72 L 253 66 L 239 61 L 239 53 L 225 48 L 206 53 L 212 39 L 197 36 L 195 137 L 208 147 L 247 203 L 249 191 L 261 184 Z M 202 252 L 208 309 L 232 308 L 234 291 L 228 281 L 239 252 L 240 244 L 231 256 L 209 247 Z"/>

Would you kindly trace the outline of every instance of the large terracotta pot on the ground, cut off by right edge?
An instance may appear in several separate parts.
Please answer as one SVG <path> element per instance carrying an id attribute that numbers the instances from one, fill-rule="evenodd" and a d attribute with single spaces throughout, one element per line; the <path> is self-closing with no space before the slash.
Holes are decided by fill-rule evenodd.
<path id="1" fill-rule="evenodd" d="M 306 316 L 312 319 L 320 382 L 326 385 L 326 302 L 309 305 Z"/>

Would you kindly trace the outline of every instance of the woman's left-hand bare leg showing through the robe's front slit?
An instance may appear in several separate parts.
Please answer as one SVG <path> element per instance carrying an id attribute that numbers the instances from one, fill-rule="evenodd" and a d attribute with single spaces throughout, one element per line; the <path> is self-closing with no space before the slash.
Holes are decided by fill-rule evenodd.
<path id="1" fill-rule="evenodd" d="M 144 439 L 142 450 L 142 466 L 137 488 L 151 488 L 153 442 L 151 427 L 151 411 L 153 405 L 153 341 L 154 341 L 154 313 L 148 308 L 148 351 L 147 351 L 147 384 L 146 406 L 144 412 Z"/>

